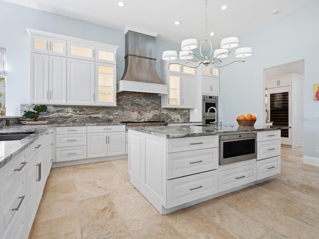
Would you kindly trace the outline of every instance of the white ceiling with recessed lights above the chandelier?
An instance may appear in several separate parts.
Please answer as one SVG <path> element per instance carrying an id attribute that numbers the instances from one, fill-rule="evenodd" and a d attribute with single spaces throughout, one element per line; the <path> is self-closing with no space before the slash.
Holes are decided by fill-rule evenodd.
<path id="1" fill-rule="evenodd" d="M 124 30 L 139 27 L 157 39 L 180 44 L 205 36 L 205 0 L 4 0 Z M 228 36 L 240 36 L 292 13 L 315 0 L 207 0 L 207 34 L 214 47 Z M 222 5 L 227 5 L 225 10 Z M 277 14 L 273 14 L 278 10 Z M 174 25 L 174 21 L 181 24 Z"/>

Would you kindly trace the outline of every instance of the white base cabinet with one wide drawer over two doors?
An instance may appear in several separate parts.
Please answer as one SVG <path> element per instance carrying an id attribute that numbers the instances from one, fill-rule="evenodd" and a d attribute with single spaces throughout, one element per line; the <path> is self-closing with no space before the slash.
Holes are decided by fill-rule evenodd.
<path id="1" fill-rule="evenodd" d="M 88 126 L 88 158 L 125 154 L 125 125 Z"/>

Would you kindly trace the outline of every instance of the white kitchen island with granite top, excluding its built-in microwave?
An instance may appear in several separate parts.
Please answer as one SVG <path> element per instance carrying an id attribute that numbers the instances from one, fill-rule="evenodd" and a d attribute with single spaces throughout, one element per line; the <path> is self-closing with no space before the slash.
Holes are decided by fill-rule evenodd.
<path id="1" fill-rule="evenodd" d="M 129 128 L 130 182 L 168 214 L 280 173 L 280 126 L 182 125 Z M 256 157 L 220 165 L 221 135 L 256 133 Z"/>

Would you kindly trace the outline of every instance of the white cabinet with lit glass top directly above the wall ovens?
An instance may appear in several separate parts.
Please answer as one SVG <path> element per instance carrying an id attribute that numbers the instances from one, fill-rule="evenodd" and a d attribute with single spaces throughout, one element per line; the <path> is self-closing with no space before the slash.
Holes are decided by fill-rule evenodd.
<path id="1" fill-rule="evenodd" d="M 213 66 L 201 66 L 201 93 L 219 95 L 219 69 Z"/>

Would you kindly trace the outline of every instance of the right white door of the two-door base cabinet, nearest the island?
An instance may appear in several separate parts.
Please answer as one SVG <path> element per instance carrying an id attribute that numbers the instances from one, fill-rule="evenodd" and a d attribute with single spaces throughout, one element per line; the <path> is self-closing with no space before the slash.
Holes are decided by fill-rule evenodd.
<path id="1" fill-rule="evenodd" d="M 125 132 L 108 133 L 108 156 L 125 154 Z"/>

